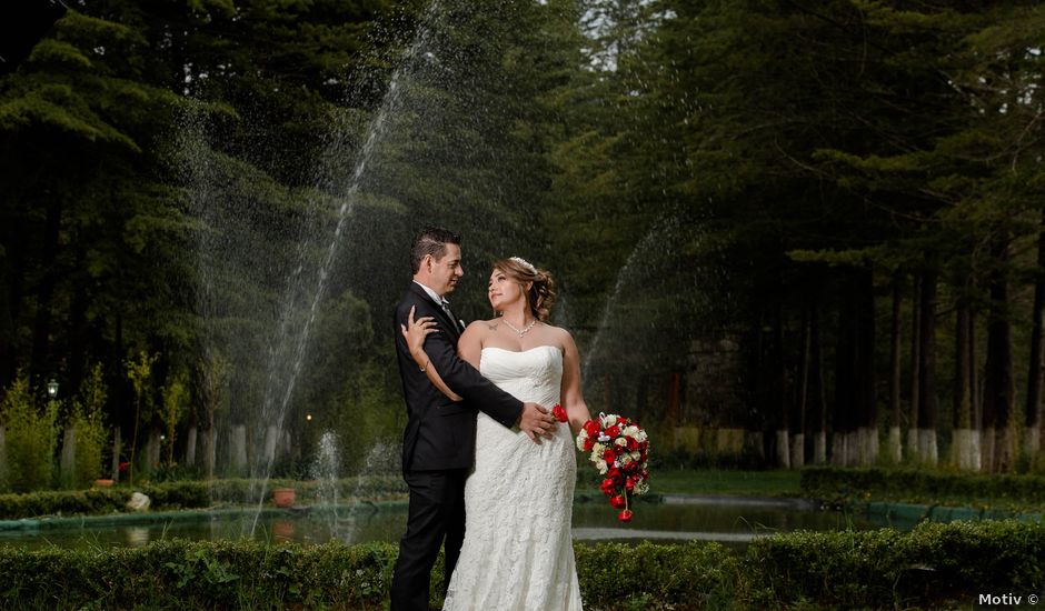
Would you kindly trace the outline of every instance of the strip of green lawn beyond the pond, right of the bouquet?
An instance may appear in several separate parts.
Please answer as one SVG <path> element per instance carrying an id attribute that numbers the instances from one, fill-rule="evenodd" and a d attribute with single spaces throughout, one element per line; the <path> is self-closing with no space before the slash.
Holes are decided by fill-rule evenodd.
<path id="1" fill-rule="evenodd" d="M 799 472 L 735 471 L 726 469 L 671 469 L 653 471 L 650 492 L 661 494 L 748 494 L 800 497 Z"/>

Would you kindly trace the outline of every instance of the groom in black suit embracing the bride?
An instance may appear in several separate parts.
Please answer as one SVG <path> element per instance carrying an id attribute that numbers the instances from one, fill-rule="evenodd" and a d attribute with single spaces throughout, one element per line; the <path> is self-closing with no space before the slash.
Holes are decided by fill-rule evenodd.
<path id="1" fill-rule="evenodd" d="M 460 236 L 427 227 L 410 248 L 414 282 L 396 307 L 392 331 L 399 360 L 399 377 L 409 419 L 402 435 L 402 478 L 410 489 L 407 532 L 399 541 L 399 559 L 391 584 L 391 609 L 427 611 L 429 581 L 439 547 L 446 539 L 444 590 L 465 540 L 465 478 L 475 459 L 476 413 L 511 428 L 516 424 L 530 439 L 550 432 L 555 418 L 536 403 L 522 403 L 498 389 L 470 364 L 457 357 L 457 340 L 464 323 L 450 312 L 445 296 L 464 276 Z M 455 403 L 442 394 L 410 357 L 400 325 L 414 317 L 434 317 L 439 331 L 425 341 L 446 384 L 465 398 Z"/>

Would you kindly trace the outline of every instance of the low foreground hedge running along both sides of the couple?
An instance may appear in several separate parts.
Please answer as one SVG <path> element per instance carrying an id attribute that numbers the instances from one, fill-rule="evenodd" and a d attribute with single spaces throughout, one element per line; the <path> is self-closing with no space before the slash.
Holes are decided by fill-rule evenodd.
<path id="1" fill-rule="evenodd" d="M 1015 521 L 796 532 L 740 554 L 703 542 L 575 549 L 589 610 L 926 609 L 1045 585 L 1045 527 Z M 390 543 L 0 547 L 0 608 L 381 609 L 395 558 Z"/>

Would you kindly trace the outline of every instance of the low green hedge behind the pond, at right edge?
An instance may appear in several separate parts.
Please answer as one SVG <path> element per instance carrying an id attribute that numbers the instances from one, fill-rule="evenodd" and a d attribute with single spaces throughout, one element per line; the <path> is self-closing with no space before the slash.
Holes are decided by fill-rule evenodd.
<path id="1" fill-rule="evenodd" d="M 982 504 L 1006 508 L 1045 507 L 1045 477 L 948 473 L 915 469 L 802 470 L 804 497 L 830 502 L 878 500 L 922 503 Z"/>

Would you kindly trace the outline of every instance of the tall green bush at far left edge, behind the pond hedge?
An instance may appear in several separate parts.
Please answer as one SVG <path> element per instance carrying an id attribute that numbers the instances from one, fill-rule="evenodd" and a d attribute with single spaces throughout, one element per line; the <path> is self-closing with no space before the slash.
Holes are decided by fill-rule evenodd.
<path id="1" fill-rule="evenodd" d="M 6 488 L 29 492 L 49 488 L 54 478 L 54 448 L 58 444 L 58 402 L 40 407 L 29 380 L 17 378 L 0 404 L 4 430 Z"/>

